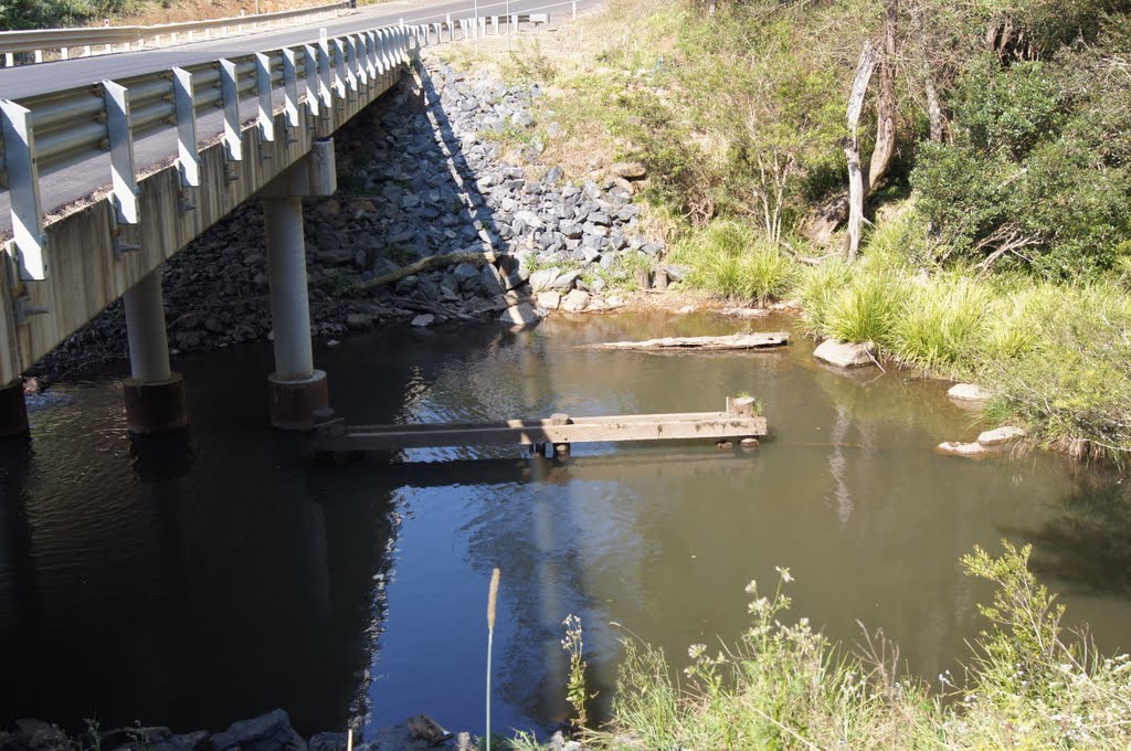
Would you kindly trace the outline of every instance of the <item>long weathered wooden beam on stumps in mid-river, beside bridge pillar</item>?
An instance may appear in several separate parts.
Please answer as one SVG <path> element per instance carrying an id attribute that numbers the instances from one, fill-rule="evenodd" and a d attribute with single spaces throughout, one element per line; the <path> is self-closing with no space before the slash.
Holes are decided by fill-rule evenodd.
<path id="1" fill-rule="evenodd" d="M 314 430 L 314 451 L 398 451 L 451 446 L 542 446 L 607 441 L 759 438 L 766 418 L 754 413 L 752 398 L 727 399 L 726 412 L 570 417 L 494 423 L 417 425 L 346 425 L 333 421 Z"/>

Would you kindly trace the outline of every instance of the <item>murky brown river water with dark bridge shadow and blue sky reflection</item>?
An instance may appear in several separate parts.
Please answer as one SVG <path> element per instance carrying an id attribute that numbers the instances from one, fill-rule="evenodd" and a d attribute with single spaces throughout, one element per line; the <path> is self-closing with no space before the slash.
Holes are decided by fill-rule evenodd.
<path id="1" fill-rule="evenodd" d="M 485 601 L 502 569 L 493 728 L 566 713 L 561 621 L 581 618 L 597 710 L 619 640 L 733 639 L 743 587 L 789 567 L 793 613 L 846 644 L 860 620 L 912 671 L 958 674 L 990 592 L 958 558 L 1031 542 L 1042 579 L 1105 651 L 1131 647 L 1131 499 L 1117 476 L 1031 454 L 934 454 L 979 425 L 947 383 L 774 353 L 594 352 L 723 334 L 709 317 L 588 318 L 523 333 L 381 331 L 321 347 L 351 422 L 722 409 L 749 391 L 771 439 L 414 451 L 317 463 L 265 428 L 269 347 L 184 360 L 191 430 L 131 441 L 113 381 L 32 397 L 0 447 L 0 724 L 221 730 L 274 707 L 303 733 L 418 713 L 483 730 Z M 756 329 L 787 327 L 759 321 Z"/>

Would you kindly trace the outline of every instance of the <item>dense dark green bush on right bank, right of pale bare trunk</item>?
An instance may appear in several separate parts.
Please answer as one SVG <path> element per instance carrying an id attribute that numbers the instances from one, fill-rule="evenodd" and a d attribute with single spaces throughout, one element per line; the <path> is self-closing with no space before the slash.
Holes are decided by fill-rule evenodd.
<path id="1" fill-rule="evenodd" d="M 1063 66 L 974 59 L 952 145 L 923 144 L 912 184 L 943 258 L 1095 277 L 1131 238 L 1131 84 L 1100 50 Z"/>

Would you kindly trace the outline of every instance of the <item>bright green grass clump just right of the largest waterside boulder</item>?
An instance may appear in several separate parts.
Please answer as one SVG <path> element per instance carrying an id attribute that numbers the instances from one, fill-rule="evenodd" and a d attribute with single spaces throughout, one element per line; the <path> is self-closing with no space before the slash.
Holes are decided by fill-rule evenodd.
<path id="1" fill-rule="evenodd" d="M 888 344 L 899 362 L 924 371 L 962 376 L 982 345 L 992 299 L 969 277 L 944 276 L 912 286 L 892 320 Z"/>

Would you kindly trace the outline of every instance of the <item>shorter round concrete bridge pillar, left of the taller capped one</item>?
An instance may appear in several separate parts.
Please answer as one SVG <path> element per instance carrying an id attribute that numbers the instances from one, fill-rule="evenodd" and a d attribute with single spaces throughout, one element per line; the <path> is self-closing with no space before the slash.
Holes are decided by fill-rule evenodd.
<path id="1" fill-rule="evenodd" d="M 167 433 L 189 422 L 184 379 L 169 364 L 161 270 L 155 269 L 122 295 L 130 378 L 122 381 L 126 422 L 131 433 Z"/>

